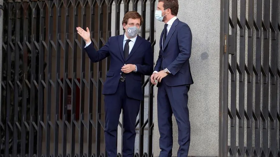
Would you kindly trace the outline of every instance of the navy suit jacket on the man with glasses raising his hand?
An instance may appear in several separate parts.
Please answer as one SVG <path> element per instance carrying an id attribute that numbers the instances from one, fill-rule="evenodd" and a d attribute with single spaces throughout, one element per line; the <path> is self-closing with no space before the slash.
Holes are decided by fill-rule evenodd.
<path id="1" fill-rule="evenodd" d="M 133 99 L 143 100 L 141 75 L 151 75 L 153 72 L 153 52 L 152 46 L 146 39 L 137 36 L 134 46 L 124 60 L 123 50 L 124 35 L 113 36 L 98 51 L 95 50 L 91 42 L 85 51 L 92 62 L 99 62 L 110 56 L 110 67 L 106 74 L 102 94 L 114 94 L 117 91 L 121 68 L 124 64 L 135 64 L 137 72 L 125 75 L 127 96 Z"/>

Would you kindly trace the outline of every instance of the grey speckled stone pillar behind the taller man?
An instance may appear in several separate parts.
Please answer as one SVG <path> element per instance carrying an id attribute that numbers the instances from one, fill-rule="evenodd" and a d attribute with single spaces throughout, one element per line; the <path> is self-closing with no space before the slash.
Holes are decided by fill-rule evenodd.
<path id="1" fill-rule="evenodd" d="M 190 67 L 194 84 L 190 87 L 188 102 L 191 123 L 189 156 L 218 156 L 220 1 L 180 0 L 177 17 L 189 25 L 193 35 Z M 164 23 L 157 21 L 155 60 L 163 28 Z M 157 87 L 154 99 L 153 153 L 159 156 L 156 95 Z M 173 116 L 172 156 L 177 156 L 178 148 L 178 128 Z"/>

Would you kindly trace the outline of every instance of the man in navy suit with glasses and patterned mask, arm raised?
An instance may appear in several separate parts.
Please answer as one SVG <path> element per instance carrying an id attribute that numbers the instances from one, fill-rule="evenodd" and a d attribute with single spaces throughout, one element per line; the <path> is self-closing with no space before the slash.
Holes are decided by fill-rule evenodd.
<path id="1" fill-rule="evenodd" d="M 138 36 L 143 23 L 136 11 L 124 15 L 124 35 L 113 36 L 98 51 L 91 43 L 90 31 L 78 27 L 77 32 L 86 42 L 85 51 L 92 62 L 99 62 L 108 56 L 110 68 L 102 94 L 105 101 L 105 146 L 108 157 L 117 156 L 117 128 L 119 115 L 123 110 L 123 157 L 133 157 L 135 124 L 143 100 L 141 75 L 153 72 L 153 52 L 149 41 Z"/>

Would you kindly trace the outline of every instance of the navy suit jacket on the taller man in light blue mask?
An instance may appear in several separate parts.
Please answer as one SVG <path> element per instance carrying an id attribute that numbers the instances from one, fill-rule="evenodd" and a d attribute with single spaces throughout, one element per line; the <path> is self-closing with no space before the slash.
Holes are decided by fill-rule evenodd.
<path id="1" fill-rule="evenodd" d="M 160 51 L 156 61 L 155 71 L 167 68 L 171 74 L 164 79 L 168 86 L 193 84 L 189 66 L 192 48 L 192 33 L 189 26 L 176 19 L 170 27 L 162 48 L 163 31 L 160 38 Z M 159 83 L 158 83 L 159 84 Z"/>

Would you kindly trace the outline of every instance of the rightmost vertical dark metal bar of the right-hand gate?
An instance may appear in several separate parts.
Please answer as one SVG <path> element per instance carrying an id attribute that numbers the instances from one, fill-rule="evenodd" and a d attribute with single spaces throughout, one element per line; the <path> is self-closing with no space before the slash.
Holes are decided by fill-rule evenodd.
<path id="1" fill-rule="evenodd" d="M 272 8 L 271 8 L 271 26 L 273 27 L 272 38 L 271 38 L 271 109 L 270 113 L 273 119 L 271 119 L 271 150 L 273 155 L 277 155 L 278 153 L 278 140 L 277 138 L 277 63 L 278 63 L 278 0 L 272 0 Z"/>

